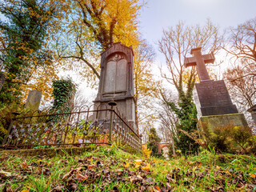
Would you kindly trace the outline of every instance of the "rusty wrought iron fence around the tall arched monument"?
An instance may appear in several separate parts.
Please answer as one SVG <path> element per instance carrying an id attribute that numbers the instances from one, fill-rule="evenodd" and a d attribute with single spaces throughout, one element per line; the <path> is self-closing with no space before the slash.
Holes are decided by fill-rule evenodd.
<path id="1" fill-rule="evenodd" d="M 133 123 L 113 106 L 92 106 L 70 113 L 34 112 L 13 118 L 2 142 L 3 149 L 109 145 L 141 149 Z"/>

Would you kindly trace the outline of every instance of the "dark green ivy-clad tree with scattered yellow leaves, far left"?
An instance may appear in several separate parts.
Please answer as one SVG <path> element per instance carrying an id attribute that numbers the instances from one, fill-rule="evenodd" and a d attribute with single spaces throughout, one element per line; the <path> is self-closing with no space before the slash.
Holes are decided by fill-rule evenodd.
<path id="1" fill-rule="evenodd" d="M 5 0 L 0 2 L 0 69 L 6 83 L 0 93 L 0 107 L 20 102 L 21 85 L 29 81 L 32 70 L 50 65 L 49 51 L 44 49 L 44 38 L 54 7 L 48 0 Z"/>

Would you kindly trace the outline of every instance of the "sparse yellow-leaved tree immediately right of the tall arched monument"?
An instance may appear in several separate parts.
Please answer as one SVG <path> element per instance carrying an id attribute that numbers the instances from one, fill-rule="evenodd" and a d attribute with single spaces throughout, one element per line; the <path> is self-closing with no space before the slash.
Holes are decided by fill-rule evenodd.
<path id="1" fill-rule="evenodd" d="M 146 41 L 142 41 L 142 45 L 134 47 L 134 101 L 136 125 L 145 122 L 149 118 L 154 118 L 152 98 L 158 97 L 160 82 L 154 80 L 151 72 L 154 62 L 155 53 Z M 155 100 L 155 99 L 154 99 Z M 139 113 L 138 113 L 139 111 Z M 147 123 L 146 123 L 147 124 Z M 147 125 L 144 125 L 148 126 Z"/>

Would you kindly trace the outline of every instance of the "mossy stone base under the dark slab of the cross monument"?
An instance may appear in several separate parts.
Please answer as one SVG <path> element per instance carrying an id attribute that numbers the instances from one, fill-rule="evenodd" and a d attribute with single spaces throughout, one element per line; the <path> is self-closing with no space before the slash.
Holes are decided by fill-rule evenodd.
<path id="1" fill-rule="evenodd" d="M 212 132 L 216 127 L 233 126 L 248 126 L 244 114 L 219 114 L 202 116 L 198 120 L 198 128 L 200 130 L 208 130 Z"/>

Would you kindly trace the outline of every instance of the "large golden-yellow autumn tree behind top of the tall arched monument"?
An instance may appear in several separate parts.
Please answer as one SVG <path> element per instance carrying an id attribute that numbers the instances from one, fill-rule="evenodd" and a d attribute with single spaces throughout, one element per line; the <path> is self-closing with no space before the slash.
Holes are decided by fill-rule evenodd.
<path id="1" fill-rule="evenodd" d="M 66 1 L 70 17 L 58 36 L 58 56 L 86 65 L 86 77 L 99 78 L 98 56 L 113 42 L 138 46 L 138 0 Z M 66 43 L 67 42 L 67 43 Z M 88 69 L 89 68 L 89 69 Z"/>

